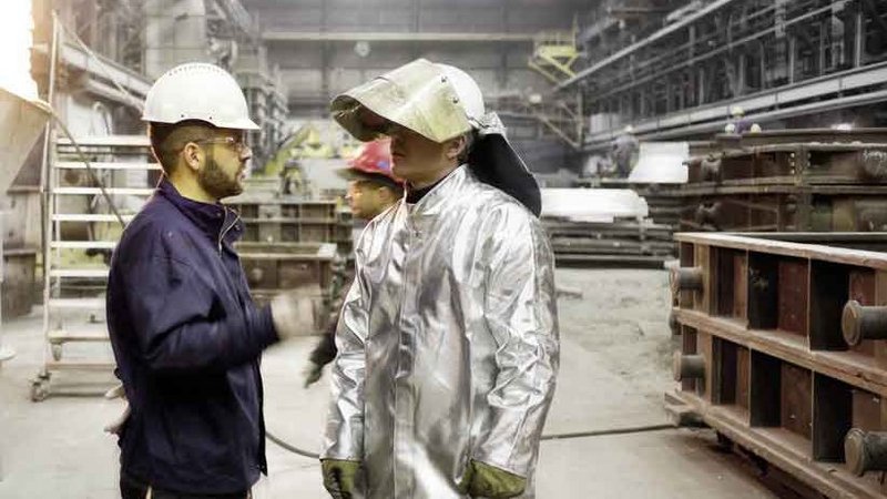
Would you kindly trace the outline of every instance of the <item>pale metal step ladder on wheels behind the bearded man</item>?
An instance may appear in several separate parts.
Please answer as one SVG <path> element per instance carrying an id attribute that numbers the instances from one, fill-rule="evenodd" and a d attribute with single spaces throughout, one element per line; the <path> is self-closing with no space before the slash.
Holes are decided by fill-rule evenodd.
<path id="1" fill-rule="evenodd" d="M 43 251 L 44 361 L 31 399 L 82 393 L 114 368 L 105 324 L 110 255 L 123 226 L 154 192 L 161 167 L 146 136 L 54 139 L 49 147 Z M 63 375 L 61 373 L 64 373 Z M 59 375 L 61 383 L 57 383 Z"/>

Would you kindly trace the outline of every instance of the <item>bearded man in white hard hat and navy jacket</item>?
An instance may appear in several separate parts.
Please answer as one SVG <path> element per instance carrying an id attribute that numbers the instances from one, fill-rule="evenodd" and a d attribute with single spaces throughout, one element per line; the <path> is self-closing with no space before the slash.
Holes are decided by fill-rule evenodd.
<path id="1" fill-rule="evenodd" d="M 126 226 L 108 282 L 108 326 L 129 417 L 121 495 L 246 498 L 266 472 L 262 377 L 269 345 L 313 323 L 310 304 L 256 307 L 233 243 L 243 231 L 220 200 L 243 191 L 257 129 L 221 68 L 182 64 L 151 88 L 143 119 L 163 167 Z"/>

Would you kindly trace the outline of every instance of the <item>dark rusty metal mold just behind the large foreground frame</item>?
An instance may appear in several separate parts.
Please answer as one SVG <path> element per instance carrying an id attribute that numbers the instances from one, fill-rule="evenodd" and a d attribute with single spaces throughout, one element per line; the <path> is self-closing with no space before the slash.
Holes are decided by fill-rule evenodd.
<path id="1" fill-rule="evenodd" d="M 681 230 L 887 230 L 887 143 L 792 138 L 690 160 L 690 182 L 679 190 Z"/>

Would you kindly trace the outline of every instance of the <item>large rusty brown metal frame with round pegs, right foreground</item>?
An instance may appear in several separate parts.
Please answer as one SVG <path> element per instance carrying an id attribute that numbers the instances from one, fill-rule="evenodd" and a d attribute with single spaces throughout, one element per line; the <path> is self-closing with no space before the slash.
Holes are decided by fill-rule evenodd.
<path id="1" fill-rule="evenodd" d="M 676 240 L 674 397 L 825 496 L 887 495 L 887 234 Z"/>

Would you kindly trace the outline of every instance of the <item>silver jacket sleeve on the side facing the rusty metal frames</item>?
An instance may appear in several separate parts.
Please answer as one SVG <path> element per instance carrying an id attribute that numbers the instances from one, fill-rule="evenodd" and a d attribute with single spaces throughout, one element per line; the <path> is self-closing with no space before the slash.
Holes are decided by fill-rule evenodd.
<path id="1" fill-rule="evenodd" d="M 512 208 L 513 210 L 513 208 Z M 536 460 L 559 364 L 553 262 L 539 224 L 498 223 L 485 315 L 497 350 L 475 459 L 527 476 Z"/>

